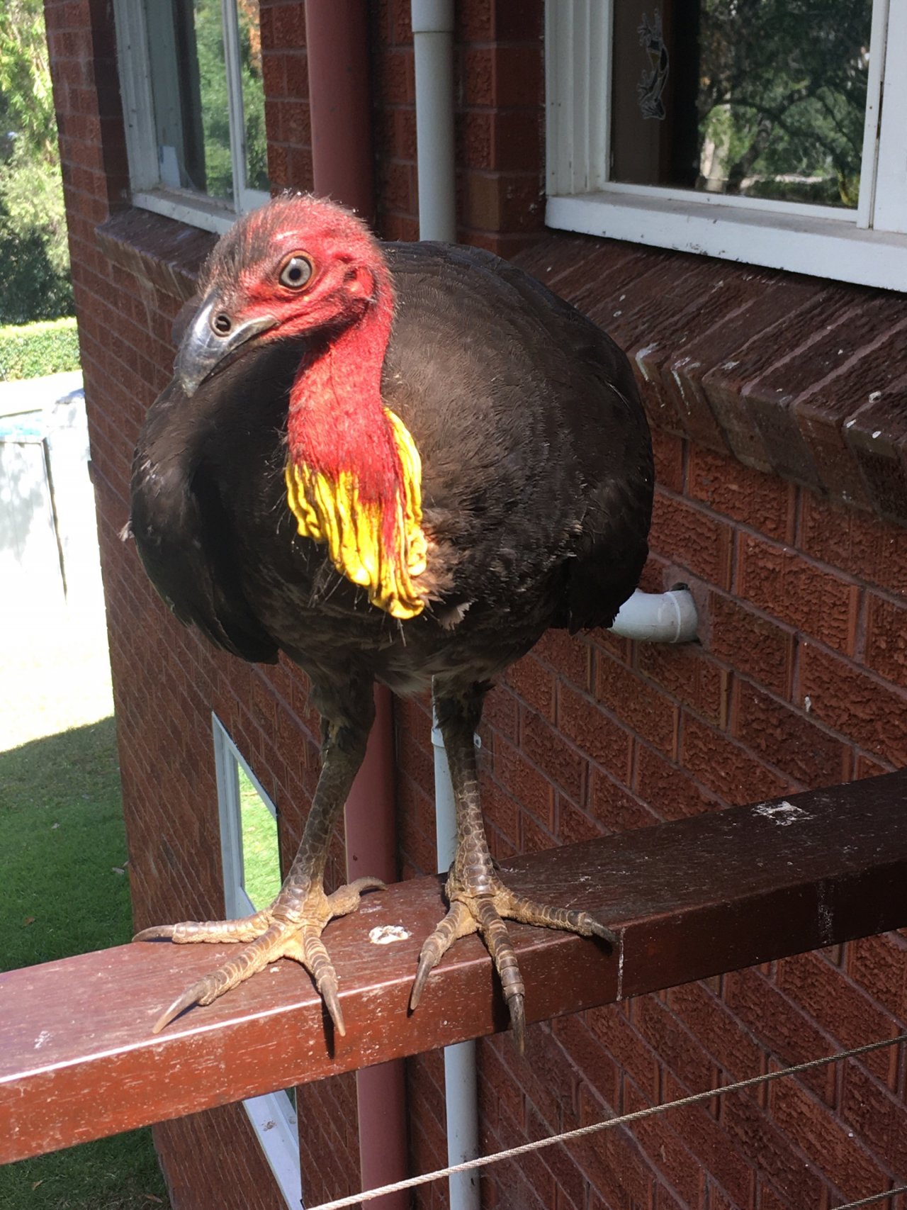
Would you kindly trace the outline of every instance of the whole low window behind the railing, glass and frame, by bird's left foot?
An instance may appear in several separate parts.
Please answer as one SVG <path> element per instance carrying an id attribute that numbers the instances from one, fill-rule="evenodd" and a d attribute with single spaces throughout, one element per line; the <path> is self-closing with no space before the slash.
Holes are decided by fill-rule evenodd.
<path id="1" fill-rule="evenodd" d="M 281 889 L 277 812 L 215 714 L 212 725 L 224 900 L 229 917 L 249 916 Z M 243 1107 L 287 1205 L 299 1210 L 302 1186 L 294 1091 L 250 1096 Z"/>

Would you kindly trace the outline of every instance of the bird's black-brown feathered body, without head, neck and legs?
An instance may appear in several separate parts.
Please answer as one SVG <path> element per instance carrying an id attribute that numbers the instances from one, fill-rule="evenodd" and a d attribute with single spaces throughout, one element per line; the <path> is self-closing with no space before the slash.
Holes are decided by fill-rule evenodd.
<path id="1" fill-rule="evenodd" d="M 397 312 L 385 403 L 422 456 L 439 595 L 403 626 L 295 535 L 283 466 L 305 340 L 249 350 L 148 414 L 132 531 L 180 621 L 314 675 L 348 658 L 392 688 L 485 680 L 548 626 L 608 626 L 646 559 L 652 454 L 632 373 L 576 309 L 474 248 L 385 244 Z M 349 650 L 347 650 L 349 649 Z"/>

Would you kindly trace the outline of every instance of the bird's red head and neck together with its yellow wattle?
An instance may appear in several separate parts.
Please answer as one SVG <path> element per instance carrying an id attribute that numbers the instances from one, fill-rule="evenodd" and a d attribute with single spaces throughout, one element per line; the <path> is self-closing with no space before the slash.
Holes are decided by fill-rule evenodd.
<path id="1" fill-rule="evenodd" d="M 220 240 L 201 286 L 177 355 L 186 396 L 253 345 L 311 336 L 289 396 L 289 509 L 374 605 L 415 617 L 426 599 L 421 461 L 381 397 L 394 296 L 376 240 L 331 202 L 278 197 Z"/>

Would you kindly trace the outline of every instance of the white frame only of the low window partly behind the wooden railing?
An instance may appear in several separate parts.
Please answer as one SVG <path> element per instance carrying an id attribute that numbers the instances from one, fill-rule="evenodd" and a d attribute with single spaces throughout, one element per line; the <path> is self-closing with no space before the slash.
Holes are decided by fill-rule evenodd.
<path id="1" fill-rule="evenodd" d="M 239 776 L 242 768 L 271 814 L 277 819 L 273 802 L 249 768 L 226 727 L 212 714 L 214 733 L 214 768 L 218 778 L 218 811 L 220 814 L 220 855 L 224 866 L 224 901 L 227 917 L 250 916 L 255 908 L 243 886 L 242 817 L 239 813 Z M 265 1093 L 243 1101 L 252 1128 L 275 1175 L 284 1202 L 291 1210 L 302 1205 L 299 1128 L 296 1114 L 285 1093 Z"/>

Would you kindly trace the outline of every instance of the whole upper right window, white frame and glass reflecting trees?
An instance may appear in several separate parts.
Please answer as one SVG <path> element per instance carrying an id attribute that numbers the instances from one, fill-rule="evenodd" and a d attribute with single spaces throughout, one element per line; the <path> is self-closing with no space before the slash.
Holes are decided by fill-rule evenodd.
<path id="1" fill-rule="evenodd" d="M 550 226 L 907 288 L 907 5 L 547 0 L 545 21 Z"/>

